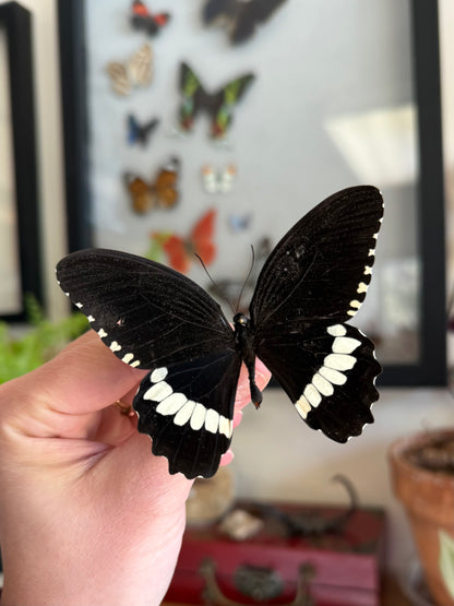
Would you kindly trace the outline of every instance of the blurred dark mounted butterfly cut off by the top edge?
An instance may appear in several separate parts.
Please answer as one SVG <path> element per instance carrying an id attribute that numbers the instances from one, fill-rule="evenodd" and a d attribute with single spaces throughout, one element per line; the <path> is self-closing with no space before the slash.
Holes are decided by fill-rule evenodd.
<path id="1" fill-rule="evenodd" d="M 249 40 L 286 0 L 207 0 L 202 19 L 206 25 L 225 25 L 232 44 Z"/>

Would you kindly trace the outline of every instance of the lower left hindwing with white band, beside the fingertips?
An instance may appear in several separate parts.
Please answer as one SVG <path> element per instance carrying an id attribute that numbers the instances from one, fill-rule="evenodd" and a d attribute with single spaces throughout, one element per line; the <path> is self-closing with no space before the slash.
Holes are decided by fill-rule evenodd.
<path id="1" fill-rule="evenodd" d="M 235 349 L 152 367 L 134 397 L 139 430 L 169 472 L 212 477 L 231 441 L 241 356 Z"/>

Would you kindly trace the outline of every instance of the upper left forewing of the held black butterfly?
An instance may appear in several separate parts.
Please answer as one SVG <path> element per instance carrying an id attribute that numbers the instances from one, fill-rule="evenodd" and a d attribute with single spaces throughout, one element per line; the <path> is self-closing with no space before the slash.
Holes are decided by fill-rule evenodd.
<path id="1" fill-rule="evenodd" d="M 194 282 L 159 263 L 86 250 L 62 259 L 57 278 L 104 343 L 133 367 L 235 348 L 219 306 Z"/>

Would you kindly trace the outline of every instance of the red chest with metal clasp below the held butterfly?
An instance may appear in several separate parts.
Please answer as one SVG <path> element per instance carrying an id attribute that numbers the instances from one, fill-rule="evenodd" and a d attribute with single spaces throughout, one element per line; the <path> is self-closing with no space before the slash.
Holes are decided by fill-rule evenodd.
<path id="1" fill-rule="evenodd" d="M 343 511 L 276 507 L 327 519 Z M 166 602 L 379 606 L 383 539 L 384 513 L 375 509 L 357 510 L 339 532 L 303 537 L 288 537 L 268 518 L 242 542 L 222 534 L 217 524 L 188 528 Z"/>

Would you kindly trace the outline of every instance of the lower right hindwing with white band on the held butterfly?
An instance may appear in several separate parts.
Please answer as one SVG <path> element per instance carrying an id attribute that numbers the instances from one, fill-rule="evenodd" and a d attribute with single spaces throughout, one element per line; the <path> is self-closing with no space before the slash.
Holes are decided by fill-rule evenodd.
<path id="1" fill-rule="evenodd" d="M 348 324 L 301 324 L 295 332 L 262 334 L 258 355 L 273 371 L 301 418 L 337 442 L 373 421 L 381 367 L 372 342 Z"/>

